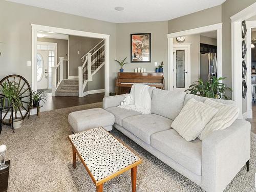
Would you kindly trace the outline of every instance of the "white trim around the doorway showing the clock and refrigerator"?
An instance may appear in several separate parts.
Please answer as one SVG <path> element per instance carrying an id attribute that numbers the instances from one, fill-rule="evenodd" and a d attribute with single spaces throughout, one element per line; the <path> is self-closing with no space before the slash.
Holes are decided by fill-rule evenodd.
<path id="1" fill-rule="evenodd" d="M 199 34 L 199 33 L 204 33 L 204 32 L 209 32 L 209 31 L 215 31 L 215 30 L 217 30 L 217 60 L 218 60 L 218 66 L 217 66 L 218 74 L 217 75 L 218 75 L 218 77 L 222 77 L 222 23 L 167 34 L 167 38 L 168 38 L 168 90 L 173 90 L 173 86 L 174 86 L 173 85 L 174 39 L 178 36 L 194 35 L 194 34 Z"/>

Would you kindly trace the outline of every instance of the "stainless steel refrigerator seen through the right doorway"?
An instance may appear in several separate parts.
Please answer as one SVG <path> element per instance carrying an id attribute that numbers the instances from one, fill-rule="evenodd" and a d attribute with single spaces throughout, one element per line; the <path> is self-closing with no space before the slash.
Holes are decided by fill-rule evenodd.
<path id="1" fill-rule="evenodd" d="M 200 78 L 203 82 L 208 81 L 212 76 L 217 77 L 217 54 L 201 53 L 200 55 Z"/>

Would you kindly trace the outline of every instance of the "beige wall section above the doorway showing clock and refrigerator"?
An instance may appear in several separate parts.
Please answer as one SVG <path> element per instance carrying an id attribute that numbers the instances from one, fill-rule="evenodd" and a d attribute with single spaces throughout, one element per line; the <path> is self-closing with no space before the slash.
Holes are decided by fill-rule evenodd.
<path id="1" fill-rule="evenodd" d="M 168 20 L 168 33 L 221 23 L 221 5 Z"/>

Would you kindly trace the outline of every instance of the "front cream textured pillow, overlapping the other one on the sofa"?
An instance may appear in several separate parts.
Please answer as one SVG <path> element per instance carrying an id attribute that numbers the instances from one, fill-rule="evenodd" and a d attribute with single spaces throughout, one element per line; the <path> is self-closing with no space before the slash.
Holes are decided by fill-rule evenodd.
<path id="1" fill-rule="evenodd" d="M 205 125 L 217 112 L 218 109 L 212 106 L 196 99 L 189 99 L 171 126 L 186 141 L 191 141 L 199 136 Z"/>

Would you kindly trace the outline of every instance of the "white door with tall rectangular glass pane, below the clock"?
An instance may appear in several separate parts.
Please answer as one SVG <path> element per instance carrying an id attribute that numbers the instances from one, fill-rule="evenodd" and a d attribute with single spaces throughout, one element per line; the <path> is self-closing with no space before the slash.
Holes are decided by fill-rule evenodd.
<path id="1" fill-rule="evenodd" d="M 189 47 L 174 47 L 174 89 L 185 91 L 189 87 Z"/>

